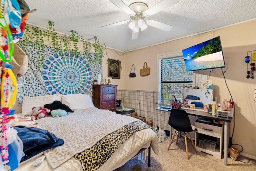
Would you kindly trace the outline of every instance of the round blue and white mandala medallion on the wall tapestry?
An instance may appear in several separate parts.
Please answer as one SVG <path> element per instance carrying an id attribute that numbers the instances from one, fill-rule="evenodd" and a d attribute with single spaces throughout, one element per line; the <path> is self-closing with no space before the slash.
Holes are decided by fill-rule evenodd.
<path id="1" fill-rule="evenodd" d="M 81 57 L 60 58 L 58 54 L 49 56 L 42 69 L 43 83 L 50 94 L 88 93 L 92 84 L 90 65 Z"/>

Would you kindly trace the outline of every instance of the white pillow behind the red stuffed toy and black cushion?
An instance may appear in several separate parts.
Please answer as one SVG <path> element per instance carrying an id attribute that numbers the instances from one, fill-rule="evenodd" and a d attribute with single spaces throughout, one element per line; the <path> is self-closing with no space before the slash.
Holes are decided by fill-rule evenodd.
<path id="1" fill-rule="evenodd" d="M 52 103 L 55 100 L 61 101 L 62 94 L 42 95 L 36 97 L 23 97 L 22 115 L 31 115 L 32 107 L 44 107 L 45 104 Z"/>

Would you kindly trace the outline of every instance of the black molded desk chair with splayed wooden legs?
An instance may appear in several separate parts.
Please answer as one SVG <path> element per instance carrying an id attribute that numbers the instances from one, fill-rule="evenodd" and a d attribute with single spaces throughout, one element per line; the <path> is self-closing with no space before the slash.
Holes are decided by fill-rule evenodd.
<path id="1" fill-rule="evenodd" d="M 190 140 L 192 142 L 192 145 L 196 151 L 196 147 L 194 145 L 194 142 L 193 142 L 193 139 L 190 135 L 189 132 L 192 132 L 192 131 L 197 131 L 196 127 L 195 126 L 192 126 L 191 123 L 190 123 L 190 120 L 188 118 L 188 114 L 186 111 L 182 110 L 182 109 L 172 109 L 171 110 L 171 114 L 170 114 L 170 117 L 169 117 L 169 125 L 176 129 L 173 136 L 172 136 L 172 140 L 169 144 L 169 147 L 167 150 L 170 149 L 170 146 L 172 144 L 172 141 L 174 139 L 174 137 L 176 135 L 178 135 L 177 137 L 177 141 L 176 143 L 178 143 L 178 138 L 180 137 L 180 132 L 183 133 L 184 135 L 184 138 L 185 138 L 185 145 L 186 145 L 186 152 L 187 152 L 187 158 L 189 160 L 189 157 L 188 157 L 188 143 L 187 143 L 187 137 L 189 135 L 190 137 Z M 183 141 L 182 141 L 183 142 Z M 183 142 L 184 143 L 184 142 Z"/>

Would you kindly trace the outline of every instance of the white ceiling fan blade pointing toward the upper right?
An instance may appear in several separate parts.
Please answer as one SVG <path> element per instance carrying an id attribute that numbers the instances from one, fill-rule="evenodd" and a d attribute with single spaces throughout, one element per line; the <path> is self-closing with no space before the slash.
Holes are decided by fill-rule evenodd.
<path id="1" fill-rule="evenodd" d="M 162 0 L 158 4 L 148 8 L 148 10 L 144 11 L 144 15 L 151 16 L 153 14 L 156 14 L 159 11 L 162 11 L 165 8 L 168 8 L 169 6 L 172 6 L 176 3 L 178 3 L 179 0 Z"/>

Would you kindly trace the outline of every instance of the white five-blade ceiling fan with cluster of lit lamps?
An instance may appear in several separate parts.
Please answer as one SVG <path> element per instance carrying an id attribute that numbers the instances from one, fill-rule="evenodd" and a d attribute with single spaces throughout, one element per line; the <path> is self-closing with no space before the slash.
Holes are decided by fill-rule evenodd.
<path id="1" fill-rule="evenodd" d="M 169 6 L 172 6 L 176 3 L 178 3 L 180 0 L 162 0 L 158 4 L 155 4 L 151 8 L 148 8 L 147 4 L 143 2 L 134 2 L 130 4 L 130 6 L 127 6 L 122 0 L 110 0 L 113 4 L 118 6 L 120 9 L 124 10 L 127 14 L 130 15 L 130 18 L 132 20 L 124 20 L 120 22 L 116 22 L 113 24 L 108 24 L 106 26 L 101 27 L 114 27 L 119 26 L 121 24 L 129 23 L 129 28 L 132 30 L 132 40 L 135 40 L 138 38 L 139 30 L 143 31 L 148 26 L 152 26 L 161 30 L 164 30 L 166 32 L 169 32 L 172 30 L 172 26 L 168 24 L 164 24 L 162 22 L 158 22 L 156 20 L 145 20 L 146 17 L 151 16 L 153 14 L 156 14 L 157 12 L 160 12 L 161 10 L 168 8 Z"/>

